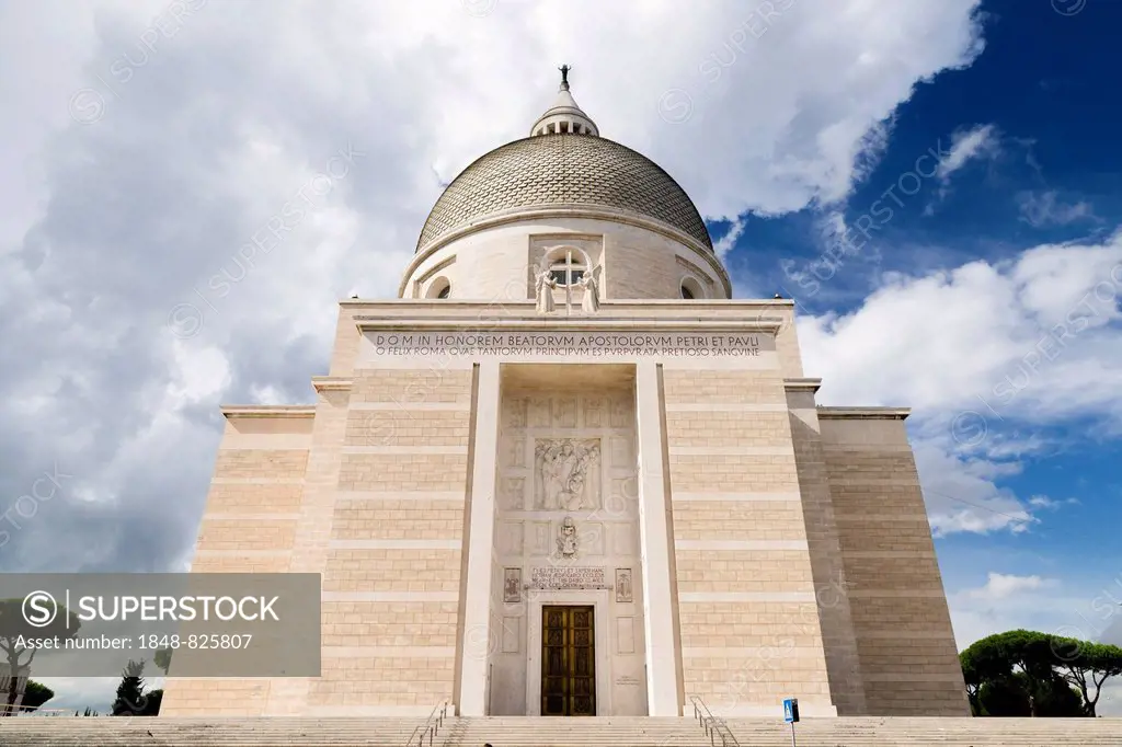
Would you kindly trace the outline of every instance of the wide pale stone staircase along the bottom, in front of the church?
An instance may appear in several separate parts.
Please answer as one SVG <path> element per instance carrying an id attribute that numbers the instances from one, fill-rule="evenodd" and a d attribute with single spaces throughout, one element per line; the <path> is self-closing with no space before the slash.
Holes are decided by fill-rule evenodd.
<path id="1" fill-rule="evenodd" d="M 3 718 L 2 747 L 405 747 L 417 718 Z M 739 747 L 789 747 L 779 719 L 726 720 Z M 800 747 L 1122 747 L 1122 719 L 836 718 Z M 720 747 L 693 718 L 449 717 L 432 747 Z M 430 744 L 424 740 L 425 747 Z M 733 747 L 729 743 L 729 747 Z"/>

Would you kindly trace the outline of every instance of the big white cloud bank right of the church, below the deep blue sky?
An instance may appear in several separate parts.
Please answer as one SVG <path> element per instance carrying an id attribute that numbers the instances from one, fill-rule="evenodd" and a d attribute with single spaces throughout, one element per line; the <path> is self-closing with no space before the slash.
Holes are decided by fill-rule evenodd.
<path id="1" fill-rule="evenodd" d="M 806 368 L 824 376 L 830 402 L 978 409 L 995 422 L 1118 419 L 1120 296 L 1116 233 L 1097 245 L 1036 247 L 997 265 L 885 276 L 854 312 L 804 317 L 799 336 Z"/>

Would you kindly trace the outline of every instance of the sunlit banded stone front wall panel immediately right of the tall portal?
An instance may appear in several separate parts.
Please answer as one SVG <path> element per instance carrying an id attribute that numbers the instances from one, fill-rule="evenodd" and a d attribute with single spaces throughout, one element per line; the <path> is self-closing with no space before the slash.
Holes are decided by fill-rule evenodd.
<path id="1" fill-rule="evenodd" d="M 684 692 L 834 714 L 783 378 L 663 371 Z"/>

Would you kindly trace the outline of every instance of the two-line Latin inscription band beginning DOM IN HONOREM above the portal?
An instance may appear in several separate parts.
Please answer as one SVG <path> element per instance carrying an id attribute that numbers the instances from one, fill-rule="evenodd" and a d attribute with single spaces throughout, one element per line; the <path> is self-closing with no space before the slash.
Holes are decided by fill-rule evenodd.
<path id="1" fill-rule="evenodd" d="M 760 334 L 642 334 L 627 332 L 429 332 L 374 333 L 379 356 L 663 356 L 756 357 Z"/>

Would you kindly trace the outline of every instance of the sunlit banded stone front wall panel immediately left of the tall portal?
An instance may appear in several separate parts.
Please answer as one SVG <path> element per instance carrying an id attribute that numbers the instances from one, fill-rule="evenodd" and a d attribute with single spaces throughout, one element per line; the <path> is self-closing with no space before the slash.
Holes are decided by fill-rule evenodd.
<path id="1" fill-rule="evenodd" d="M 306 714 L 424 716 L 452 699 L 471 390 L 470 367 L 355 370 Z"/>

